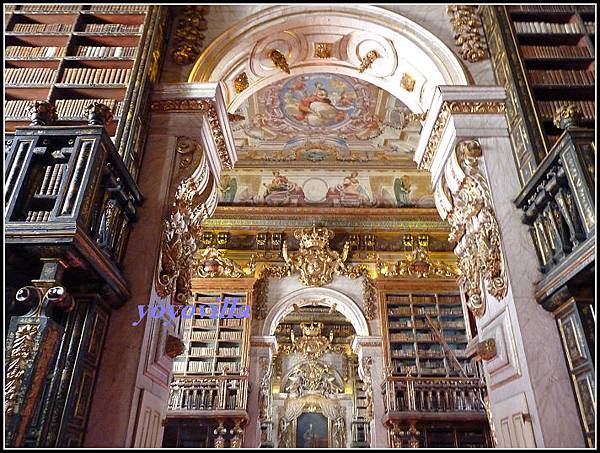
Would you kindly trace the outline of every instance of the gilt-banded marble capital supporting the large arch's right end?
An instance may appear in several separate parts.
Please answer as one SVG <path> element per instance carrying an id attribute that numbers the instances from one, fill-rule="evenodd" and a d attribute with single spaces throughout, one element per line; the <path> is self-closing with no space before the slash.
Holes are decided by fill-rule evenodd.
<path id="1" fill-rule="evenodd" d="M 505 99 L 504 88 L 497 86 L 437 88 L 414 157 L 434 184 L 459 141 L 507 135 Z"/>

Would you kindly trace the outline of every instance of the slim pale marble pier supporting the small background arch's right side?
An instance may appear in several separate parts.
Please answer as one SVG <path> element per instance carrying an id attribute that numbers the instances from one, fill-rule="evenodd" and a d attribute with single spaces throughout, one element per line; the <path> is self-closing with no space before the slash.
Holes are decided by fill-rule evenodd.
<path id="1" fill-rule="evenodd" d="M 385 376 L 385 361 L 383 357 L 383 338 L 380 336 L 356 336 L 352 343 L 352 350 L 358 355 L 359 373 L 363 380 L 364 373 L 371 379 L 373 392 L 373 420 L 371 421 L 371 447 L 389 447 L 387 428 L 382 419 L 385 416 L 385 405 L 381 385 Z M 364 369 L 364 359 L 370 359 L 369 370 Z"/>

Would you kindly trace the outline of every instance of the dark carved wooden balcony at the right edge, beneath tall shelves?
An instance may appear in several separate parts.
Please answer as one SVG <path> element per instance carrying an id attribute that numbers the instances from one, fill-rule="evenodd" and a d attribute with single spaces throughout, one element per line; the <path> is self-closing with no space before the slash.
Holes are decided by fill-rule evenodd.
<path id="1" fill-rule="evenodd" d="M 566 130 L 516 199 L 540 269 L 538 295 L 567 283 L 594 259 L 594 132 Z M 541 292 L 544 294 L 540 294 Z"/>

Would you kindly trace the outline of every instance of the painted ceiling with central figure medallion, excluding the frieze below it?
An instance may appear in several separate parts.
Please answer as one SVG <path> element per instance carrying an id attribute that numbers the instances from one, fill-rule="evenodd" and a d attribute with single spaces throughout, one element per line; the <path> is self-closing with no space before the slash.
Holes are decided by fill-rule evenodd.
<path id="1" fill-rule="evenodd" d="M 298 75 L 263 88 L 237 111 L 239 165 L 414 168 L 421 124 L 387 92 L 337 74 Z"/>

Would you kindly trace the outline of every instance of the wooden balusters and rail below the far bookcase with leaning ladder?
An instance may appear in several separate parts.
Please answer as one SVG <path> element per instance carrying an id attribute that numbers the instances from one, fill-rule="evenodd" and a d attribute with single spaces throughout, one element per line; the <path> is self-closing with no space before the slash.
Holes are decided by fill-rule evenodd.
<path id="1" fill-rule="evenodd" d="M 382 384 L 386 412 L 485 412 L 479 379 L 388 377 Z"/>

